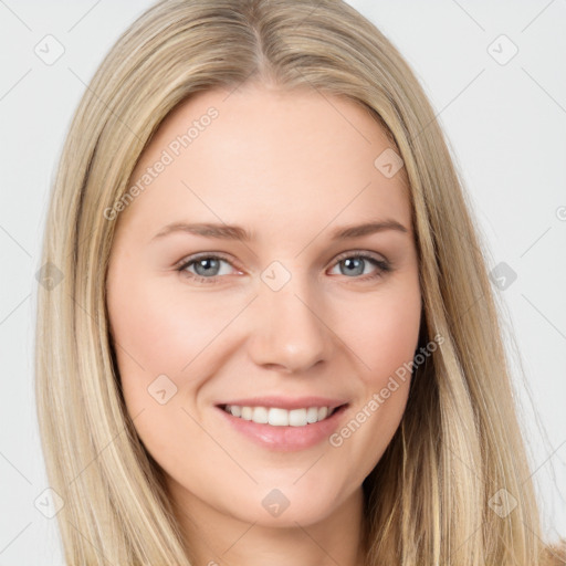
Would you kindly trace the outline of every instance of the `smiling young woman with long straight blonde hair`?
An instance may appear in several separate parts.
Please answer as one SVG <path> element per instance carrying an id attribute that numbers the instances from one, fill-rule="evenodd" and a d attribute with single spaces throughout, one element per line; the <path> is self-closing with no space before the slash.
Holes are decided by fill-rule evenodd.
<path id="1" fill-rule="evenodd" d="M 77 109 L 44 242 L 69 564 L 560 564 L 442 133 L 347 4 L 148 10 Z"/>

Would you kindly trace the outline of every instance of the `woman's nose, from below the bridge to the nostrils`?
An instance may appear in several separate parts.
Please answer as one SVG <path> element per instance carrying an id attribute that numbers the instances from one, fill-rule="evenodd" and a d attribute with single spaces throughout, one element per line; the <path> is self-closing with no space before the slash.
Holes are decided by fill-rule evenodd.
<path id="1" fill-rule="evenodd" d="M 250 337 L 250 356 L 263 367 L 302 373 L 329 358 L 332 332 L 322 300 L 294 276 L 273 291 L 261 283 Z"/>

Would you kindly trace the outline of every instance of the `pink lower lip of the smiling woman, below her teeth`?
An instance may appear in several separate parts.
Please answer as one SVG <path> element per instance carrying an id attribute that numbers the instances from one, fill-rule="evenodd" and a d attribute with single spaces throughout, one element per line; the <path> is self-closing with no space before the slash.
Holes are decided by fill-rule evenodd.
<path id="1" fill-rule="evenodd" d="M 347 407 L 347 405 L 343 405 L 327 419 L 304 427 L 259 424 L 251 420 L 234 417 L 221 407 L 216 407 L 216 409 L 220 411 L 221 416 L 227 419 L 234 430 L 261 447 L 280 452 L 294 452 L 314 447 L 327 439 L 336 430 L 338 421 Z"/>

